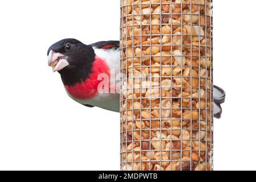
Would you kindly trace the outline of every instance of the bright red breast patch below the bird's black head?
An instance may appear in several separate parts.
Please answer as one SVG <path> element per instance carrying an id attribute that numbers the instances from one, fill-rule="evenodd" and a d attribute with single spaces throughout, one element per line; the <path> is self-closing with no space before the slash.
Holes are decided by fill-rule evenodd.
<path id="1" fill-rule="evenodd" d="M 67 92 L 74 98 L 79 100 L 88 100 L 97 96 L 98 94 L 98 84 L 102 82 L 102 80 L 98 80 L 98 75 L 100 73 L 105 73 L 110 76 L 110 70 L 108 65 L 104 60 L 96 57 L 92 67 L 92 73 L 90 76 L 79 84 L 73 86 L 65 86 Z"/>

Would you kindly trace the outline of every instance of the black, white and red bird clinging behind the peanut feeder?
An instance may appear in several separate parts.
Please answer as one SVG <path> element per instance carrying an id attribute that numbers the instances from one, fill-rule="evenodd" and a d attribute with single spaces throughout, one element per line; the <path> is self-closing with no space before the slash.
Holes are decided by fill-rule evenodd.
<path id="1" fill-rule="evenodd" d="M 117 88 L 109 79 L 110 75 L 119 74 L 119 41 L 86 45 L 77 39 L 63 39 L 48 48 L 47 56 L 49 67 L 52 67 L 53 72 L 60 73 L 69 97 L 86 107 L 119 112 L 120 94 L 113 92 Z M 112 92 L 107 92 L 110 90 Z M 214 117 L 220 118 L 221 104 L 225 101 L 224 90 L 214 85 L 213 97 Z"/>

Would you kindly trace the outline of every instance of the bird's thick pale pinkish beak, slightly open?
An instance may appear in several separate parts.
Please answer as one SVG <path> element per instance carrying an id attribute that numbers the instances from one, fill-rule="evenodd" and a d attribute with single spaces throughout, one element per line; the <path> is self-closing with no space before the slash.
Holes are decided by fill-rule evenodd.
<path id="1" fill-rule="evenodd" d="M 51 50 L 48 55 L 48 65 L 52 67 L 53 72 L 60 71 L 69 65 L 67 58 L 68 56 Z"/>

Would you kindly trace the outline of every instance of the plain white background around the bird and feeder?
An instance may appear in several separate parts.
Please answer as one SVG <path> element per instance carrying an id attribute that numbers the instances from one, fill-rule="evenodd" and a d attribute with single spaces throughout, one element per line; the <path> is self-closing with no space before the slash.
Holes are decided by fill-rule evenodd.
<path id="1" fill-rule="evenodd" d="M 214 1 L 214 169 L 256 169 L 255 6 Z M 119 40 L 119 0 L 0 2 L 0 169 L 119 170 L 119 114 L 72 101 L 47 49 L 63 38 Z"/>

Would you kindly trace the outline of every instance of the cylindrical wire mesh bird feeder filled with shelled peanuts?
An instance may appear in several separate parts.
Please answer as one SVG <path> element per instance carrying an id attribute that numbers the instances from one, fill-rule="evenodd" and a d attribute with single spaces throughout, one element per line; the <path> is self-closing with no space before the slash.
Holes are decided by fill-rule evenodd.
<path id="1" fill-rule="evenodd" d="M 121 0 L 121 170 L 213 170 L 212 0 Z"/>

